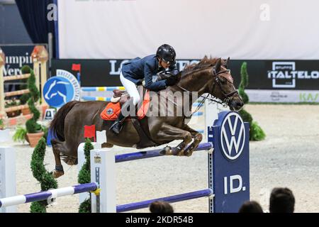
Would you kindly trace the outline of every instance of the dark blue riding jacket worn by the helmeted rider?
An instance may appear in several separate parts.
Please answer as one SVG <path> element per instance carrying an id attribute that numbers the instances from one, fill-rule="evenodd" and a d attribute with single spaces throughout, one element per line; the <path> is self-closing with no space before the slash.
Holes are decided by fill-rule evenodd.
<path id="1" fill-rule="evenodd" d="M 128 79 L 135 84 L 139 84 L 142 79 L 145 79 L 145 87 L 156 92 L 167 87 L 166 79 L 153 82 L 153 77 L 157 77 L 157 73 L 162 71 L 165 70 L 163 67 L 159 67 L 156 55 L 150 55 L 142 59 L 137 57 L 126 62 L 122 67 L 122 74 L 125 79 Z M 169 72 L 173 75 L 179 73 L 176 63 L 169 66 Z"/>

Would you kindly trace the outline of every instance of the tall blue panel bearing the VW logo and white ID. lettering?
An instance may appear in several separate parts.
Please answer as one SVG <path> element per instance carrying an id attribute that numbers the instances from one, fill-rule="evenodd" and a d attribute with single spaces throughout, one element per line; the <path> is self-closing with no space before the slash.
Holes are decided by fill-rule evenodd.
<path id="1" fill-rule="evenodd" d="M 250 126 L 232 111 L 220 112 L 213 125 L 208 141 L 214 148 L 214 212 L 237 213 L 250 200 Z"/>

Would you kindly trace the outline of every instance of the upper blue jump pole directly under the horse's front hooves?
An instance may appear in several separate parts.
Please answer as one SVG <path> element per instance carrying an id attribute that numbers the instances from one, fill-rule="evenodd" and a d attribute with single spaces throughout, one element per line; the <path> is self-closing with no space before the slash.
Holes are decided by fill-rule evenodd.
<path id="1" fill-rule="evenodd" d="M 212 148 L 211 143 L 201 143 L 200 145 L 198 145 L 198 148 L 196 148 L 196 150 L 209 150 L 211 148 Z M 163 156 L 164 154 L 160 153 L 161 150 L 162 149 L 116 155 L 116 163 Z"/>

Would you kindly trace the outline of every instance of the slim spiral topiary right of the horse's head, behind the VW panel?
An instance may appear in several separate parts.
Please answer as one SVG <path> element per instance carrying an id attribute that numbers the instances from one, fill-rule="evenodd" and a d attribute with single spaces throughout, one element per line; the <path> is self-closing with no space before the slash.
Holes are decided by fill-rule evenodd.
<path id="1" fill-rule="evenodd" d="M 244 104 L 247 104 L 249 102 L 249 97 L 245 93 L 245 87 L 248 85 L 248 72 L 247 72 L 247 62 L 242 63 L 242 67 L 240 70 L 241 74 L 241 81 L 240 81 L 240 86 L 238 88 L 238 92 L 240 96 L 242 96 L 242 100 L 244 101 Z M 266 138 L 266 134 L 258 126 L 256 121 L 253 121 L 252 115 L 245 111 L 245 109 L 242 109 L 239 111 L 240 116 L 242 117 L 242 120 L 245 122 L 250 123 L 250 140 L 264 140 Z"/>

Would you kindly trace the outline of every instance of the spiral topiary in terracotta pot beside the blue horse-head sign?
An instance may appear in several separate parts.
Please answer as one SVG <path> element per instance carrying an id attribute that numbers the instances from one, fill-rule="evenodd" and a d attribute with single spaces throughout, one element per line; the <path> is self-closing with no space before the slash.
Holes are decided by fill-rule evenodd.
<path id="1" fill-rule="evenodd" d="M 40 92 L 35 86 L 35 74 L 33 70 L 28 66 L 23 66 L 21 69 L 23 74 L 30 74 L 28 78 L 28 89 L 30 91 L 30 98 L 28 99 L 28 106 L 33 114 L 33 117 L 26 122 L 26 138 L 30 143 L 31 148 L 35 148 L 38 144 L 40 138 L 42 138 L 45 133 L 43 132 L 43 127 L 38 124 L 38 119 L 40 118 L 40 111 L 35 107 L 35 103 L 40 98 Z"/>

